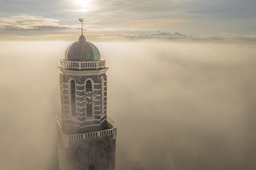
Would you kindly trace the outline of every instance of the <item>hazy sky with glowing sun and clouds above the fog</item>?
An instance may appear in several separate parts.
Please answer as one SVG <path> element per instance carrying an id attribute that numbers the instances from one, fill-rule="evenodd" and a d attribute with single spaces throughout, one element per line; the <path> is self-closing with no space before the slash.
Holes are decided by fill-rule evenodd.
<path id="1" fill-rule="evenodd" d="M 256 40 L 255 0 L 1 0 L 1 39 Z M 65 37 L 65 38 L 63 38 Z"/>

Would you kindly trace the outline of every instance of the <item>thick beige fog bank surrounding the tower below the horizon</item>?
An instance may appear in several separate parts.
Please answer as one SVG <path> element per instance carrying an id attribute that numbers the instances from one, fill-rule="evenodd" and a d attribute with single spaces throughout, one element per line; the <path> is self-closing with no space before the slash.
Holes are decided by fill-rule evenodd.
<path id="1" fill-rule="evenodd" d="M 0 42 L 0 169 L 58 169 L 65 41 Z M 95 42 L 116 169 L 256 169 L 255 45 Z"/>

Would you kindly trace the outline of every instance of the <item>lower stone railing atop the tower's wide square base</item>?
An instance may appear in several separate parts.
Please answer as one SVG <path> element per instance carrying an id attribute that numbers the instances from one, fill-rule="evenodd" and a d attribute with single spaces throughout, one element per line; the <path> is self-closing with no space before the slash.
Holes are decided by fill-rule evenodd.
<path id="1" fill-rule="evenodd" d="M 82 133 L 82 134 L 78 134 L 78 135 L 69 135 L 69 140 L 70 141 L 79 141 L 79 140 L 87 140 L 87 139 L 112 136 L 112 135 L 113 135 L 113 137 L 115 137 L 116 134 L 117 134 L 117 129 L 112 128 L 109 130 L 102 130 L 102 131 L 97 131 L 97 132 L 88 132 L 88 133 Z"/>

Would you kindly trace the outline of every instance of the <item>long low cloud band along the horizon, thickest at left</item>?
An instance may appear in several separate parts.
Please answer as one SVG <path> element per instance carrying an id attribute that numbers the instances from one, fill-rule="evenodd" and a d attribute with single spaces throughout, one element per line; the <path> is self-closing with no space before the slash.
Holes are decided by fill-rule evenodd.
<path id="1" fill-rule="evenodd" d="M 42 16 L 12 16 L 10 18 L 0 18 L 1 39 L 9 37 L 16 39 L 21 35 L 33 39 L 33 36 L 51 35 L 50 39 L 67 39 L 79 33 L 80 25 L 63 25 L 58 19 L 45 18 Z M 189 35 L 178 31 L 155 30 L 155 29 L 106 29 L 95 25 L 85 25 L 88 28 L 86 35 L 92 40 L 230 40 L 256 42 L 255 35 Z M 75 30 L 77 30 L 75 32 Z M 6 39 L 7 39 L 6 38 Z"/>

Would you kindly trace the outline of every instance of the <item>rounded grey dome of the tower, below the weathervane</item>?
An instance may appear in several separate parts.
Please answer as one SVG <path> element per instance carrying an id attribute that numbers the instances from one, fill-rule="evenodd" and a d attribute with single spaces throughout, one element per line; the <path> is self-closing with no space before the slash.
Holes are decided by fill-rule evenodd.
<path id="1" fill-rule="evenodd" d="M 79 41 L 71 44 L 65 52 L 65 60 L 73 62 L 94 62 L 100 60 L 100 51 L 80 35 Z"/>

